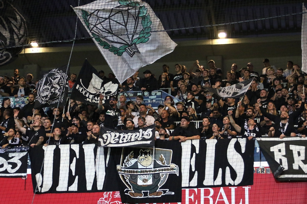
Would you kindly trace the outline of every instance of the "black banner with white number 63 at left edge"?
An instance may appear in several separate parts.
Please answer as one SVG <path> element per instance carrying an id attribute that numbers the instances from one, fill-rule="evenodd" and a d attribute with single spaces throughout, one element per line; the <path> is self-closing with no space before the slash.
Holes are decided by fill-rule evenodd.
<path id="1" fill-rule="evenodd" d="M 0 177 L 23 177 L 27 175 L 29 147 L 0 150 Z"/>

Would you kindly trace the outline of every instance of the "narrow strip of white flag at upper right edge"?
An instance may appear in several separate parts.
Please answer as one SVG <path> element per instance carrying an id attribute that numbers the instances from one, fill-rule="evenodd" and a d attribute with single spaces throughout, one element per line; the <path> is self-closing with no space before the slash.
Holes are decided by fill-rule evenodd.
<path id="1" fill-rule="evenodd" d="M 301 47 L 302 47 L 302 71 L 307 73 L 307 10 L 303 3 L 302 14 L 302 34 L 301 34 Z"/>

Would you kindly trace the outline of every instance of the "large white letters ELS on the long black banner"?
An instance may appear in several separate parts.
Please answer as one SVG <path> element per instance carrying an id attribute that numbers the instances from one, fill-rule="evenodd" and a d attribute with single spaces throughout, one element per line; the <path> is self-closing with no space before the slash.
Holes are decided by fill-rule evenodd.
<path id="1" fill-rule="evenodd" d="M 232 139 L 229 142 L 228 148 L 227 148 L 227 160 L 230 166 L 226 166 L 225 169 L 222 169 L 214 165 L 215 156 L 216 156 L 215 155 L 215 145 L 217 141 L 216 140 L 206 140 L 207 148 L 206 148 L 206 158 L 204 161 L 205 163 L 204 177 L 198 176 L 199 172 L 195 171 L 196 169 L 195 168 L 195 164 L 196 164 L 195 157 L 198 155 L 200 151 L 199 150 L 199 140 L 187 140 L 186 142 L 182 142 L 181 143 L 181 146 L 182 146 L 181 163 L 185 164 L 181 166 L 181 173 L 182 173 L 182 184 L 181 185 L 182 187 L 197 186 L 197 184 L 199 183 L 198 179 L 201 177 L 204 178 L 203 184 L 205 186 L 222 185 L 223 172 L 225 172 L 225 185 L 240 184 L 243 179 L 243 174 L 244 174 L 244 168 L 243 168 L 244 161 L 243 161 L 242 156 L 234 148 L 235 143 L 237 141 L 240 143 L 241 152 L 242 153 L 245 152 L 246 138 Z M 193 149 L 196 149 L 196 151 L 192 152 Z M 204 152 L 202 152 L 202 154 L 204 154 Z M 191 168 L 192 171 L 190 171 L 190 166 L 192 167 Z M 237 174 L 235 180 L 232 180 L 230 176 L 230 169 L 234 169 L 235 173 Z M 214 172 L 218 172 L 215 180 L 214 180 Z"/>

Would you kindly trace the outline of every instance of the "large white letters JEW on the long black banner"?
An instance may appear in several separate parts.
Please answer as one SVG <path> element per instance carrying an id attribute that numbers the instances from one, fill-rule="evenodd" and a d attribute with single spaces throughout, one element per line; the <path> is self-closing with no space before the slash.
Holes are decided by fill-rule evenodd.
<path id="1" fill-rule="evenodd" d="M 43 147 L 45 151 L 45 155 L 49 155 L 45 157 L 44 160 L 44 174 L 43 177 L 40 173 L 36 174 L 36 182 L 37 182 L 37 191 L 39 192 L 47 192 L 50 190 L 53 182 L 59 183 L 56 190 L 57 191 L 77 191 L 78 187 L 78 173 L 76 171 L 76 163 L 78 163 L 79 159 L 79 148 L 84 149 L 84 160 L 82 162 L 85 163 L 85 177 L 86 183 L 82 183 L 87 188 L 87 191 L 92 190 L 92 185 L 95 179 L 96 174 L 96 182 L 97 189 L 102 190 L 104 179 L 105 179 L 105 168 L 109 162 L 110 156 L 110 148 L 108 148 L 107 155 L 104 155 L 103 147 L 98 147 L 97 156 L 96 156 L 96 165 L 95 165 L 95 156 L 94 156 L 94 148 L 95 144 L 82 145 L 72 144 L 72 145 L 59 145 L 61 156 L 60 156 L 60 171 L 59 171 L 59 180 L 54 181 L 53 174 L 53 152 L 56 148 L 56 145 L 48 145 L 47 147 Z M 74 158 L 72 162 L 70 162 L 71 153 L 74 152 Z M 106 157 L 106 159 L 105 159 Z M 80 162 L 80 161 L 79 161 Z M 68 186 L 68 183 L 72 183 Z M 80 185 L 80 184 L 79 184 Z"/>

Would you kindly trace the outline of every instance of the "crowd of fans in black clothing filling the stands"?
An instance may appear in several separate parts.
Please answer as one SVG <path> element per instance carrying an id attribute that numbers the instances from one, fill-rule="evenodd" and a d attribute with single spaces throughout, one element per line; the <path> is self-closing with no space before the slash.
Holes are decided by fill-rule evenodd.
<path id="1" fill-rule="evenodd" d="M 253 64 L 238 70 L 232 64 L 229 71 L 222 72 L 215 62 L 208 62 L 209 69 L 195 61 L 187 67 L 176 64 L 173 73 L 163 65 L 158 80 L 150 70 L 143 72 L 144 78 L 136 72 L 119 88 L 119 97 L 108 100 L 99 97 L 97 106 L 70 100 L 64 107 L 54 108 L 46 113 L 34 109 L 36 83 L 33 75 L 26 78 L 14 70 L 14 77 L 0 76 L 0 146 L 59 145 L 72 143 L 98 143 L 102 126 L 117 130 L 133 130 L 155 124 L 156 139 L 225 139 L 238 136 L 252 139 L 268 137 L 295 137 L 306 135 L 305 95 L 307 79 L 298 65 L 287 62 L 287 68 L 271 66 L 268 59 L 263 61 L 262 73 L 253 71 Z M 193 72 L 195 69 L 195 73 Z M 176 72 L 176 73 L 175 73 Z M 224 75 L 223 75 L 224 74 Z M 103 80 L 113 80 L 99 72 Z M 224 76 L 224 77 L 222 77 Z M 77 75 L 71 74 L 69 90 L 74 87 Z M 208 88 L 220 89 L 252 79 L 251 86 L 242 98 L 220 98 Z M 147 91 L 171 89 L 157 110 L 143 104 L 143 96 L 135 101 L 126 99 L 126 91 Z M 20 109 L 12 108 L 7 97 L 27 96 L 27 104 Z M 181 102 L 174 103 L 173 98 Z M 196 129 L 193 121 L 201 121 Z M 176 121 L 178 124 L 176 125 Z"/>

